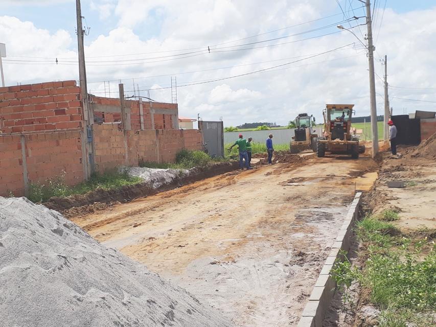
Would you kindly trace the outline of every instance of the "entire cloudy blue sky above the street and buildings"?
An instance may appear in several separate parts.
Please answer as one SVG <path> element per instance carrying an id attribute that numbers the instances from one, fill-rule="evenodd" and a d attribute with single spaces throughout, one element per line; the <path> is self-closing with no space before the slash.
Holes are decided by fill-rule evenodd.
<path id="1" fill-rule="evenodd" d="M 362 5 L 82 0 L 88 91 L 118 97 L 121 81 L 128 96 L 171 102 L 173 77 L 180 116 L 199 113 L 224 126 L 286 125 L 303 112 L 320 122 L 326 103 L 355 104 L 357 116 L 369 115 Z M 372 0 L 373 9 L 377 113 L 385 55 L 394 114 L 434 111 L 436 2 Z M 0 0 L 0 13 L 7 85 L 79 79 L 74 0 Z"/>

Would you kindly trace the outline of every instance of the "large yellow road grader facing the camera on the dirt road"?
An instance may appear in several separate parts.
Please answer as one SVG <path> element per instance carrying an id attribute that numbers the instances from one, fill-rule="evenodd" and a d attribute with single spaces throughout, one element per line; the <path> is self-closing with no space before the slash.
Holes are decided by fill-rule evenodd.
<path id="1" fill-rule="evenodd" d="M 351 134 L 351 118 L 354 104 L 327 104 L 323 110 L 324 132 L 318 137 L 316 154 L 324 157 L 326 152 L 348 154 L 353 159 L 365 152 L 365 146 L 359 146 L 359 138 Z"/>

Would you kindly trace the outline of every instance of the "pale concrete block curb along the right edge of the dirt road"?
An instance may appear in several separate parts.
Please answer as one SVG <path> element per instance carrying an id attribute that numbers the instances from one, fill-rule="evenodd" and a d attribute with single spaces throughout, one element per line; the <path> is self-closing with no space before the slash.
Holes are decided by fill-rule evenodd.
<path id="1" fill-rule="evenodd" d="M 361 192 L 356 193 L 350 209 L 339 229 L 332 250 L 319 273 L 318 279 L 303 310 L 297 327 L 322 327 L 330 302 L 336 292 L 336 282 L 330 276 L 330 270 L 336 259 L 340 258 L 340 250 L 350 249 L 351 235 L 355 221 L 359 218 Z"/>

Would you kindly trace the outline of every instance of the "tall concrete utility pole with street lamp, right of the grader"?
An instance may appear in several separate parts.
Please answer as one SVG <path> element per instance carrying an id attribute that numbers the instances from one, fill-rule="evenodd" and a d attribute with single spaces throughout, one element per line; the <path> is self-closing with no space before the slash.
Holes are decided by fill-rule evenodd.
<path id="1" fill-rule="evenodd" d="M 370 0 L 366 0 L 366 27 L 368 28 L 368 61 L 370 66 L 371 128 L 373 132 L 373 157 L 378 153 L 376 82 L 374 77 L 374 45 Z"/>

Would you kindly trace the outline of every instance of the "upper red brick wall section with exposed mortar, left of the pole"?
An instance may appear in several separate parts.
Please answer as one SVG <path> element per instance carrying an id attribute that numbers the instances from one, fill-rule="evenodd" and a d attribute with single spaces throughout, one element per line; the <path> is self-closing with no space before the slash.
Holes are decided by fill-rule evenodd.
<path id="1" fill-rule="evenodd" d="M 0 131 L 20 133 L 80 128 L 76 81 L 0 87 Z"/>

